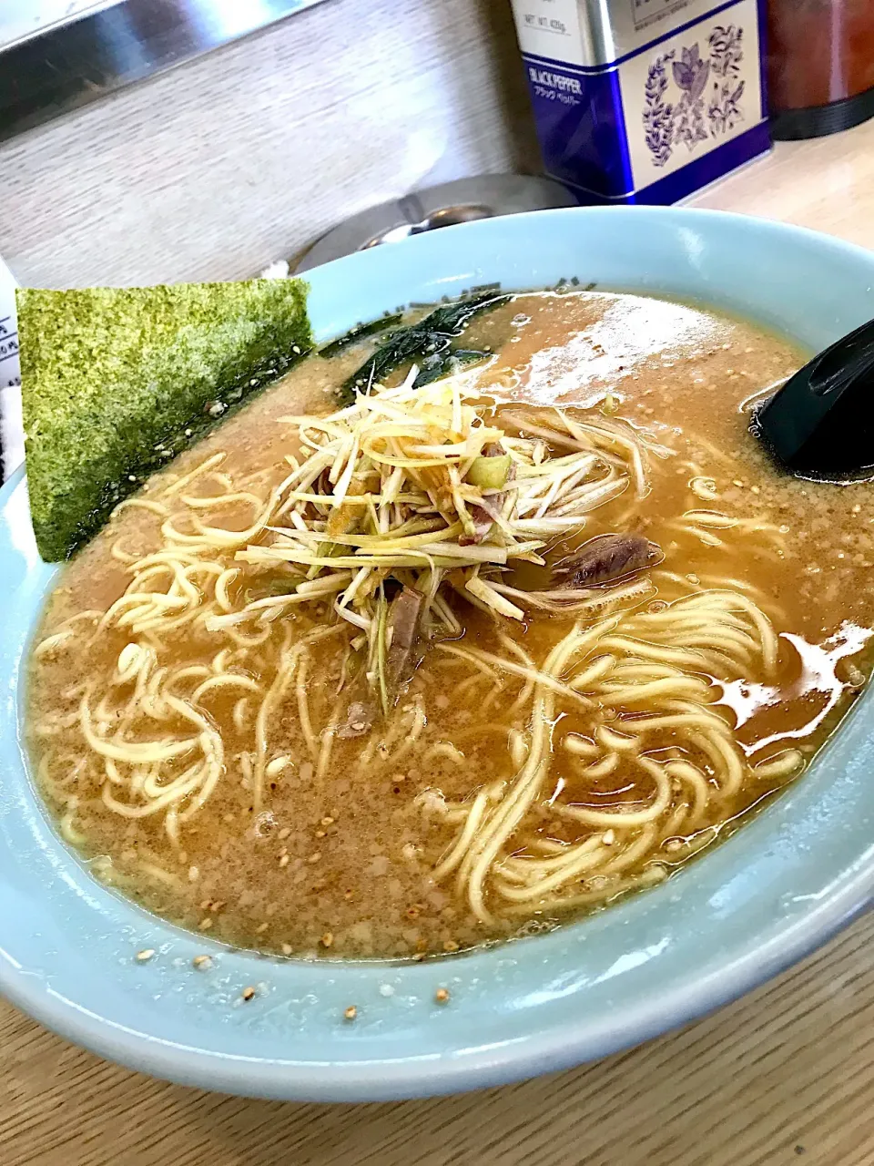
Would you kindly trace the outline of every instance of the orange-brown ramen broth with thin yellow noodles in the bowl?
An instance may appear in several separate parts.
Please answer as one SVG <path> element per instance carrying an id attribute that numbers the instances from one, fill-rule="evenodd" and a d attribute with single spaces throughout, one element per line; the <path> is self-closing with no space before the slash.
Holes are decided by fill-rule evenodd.
<path id="1" fill-rule="evenodd" d="M 457 951 L 663 881 L 803 773 L 869 673 L 871 485 L 791 478 L 748 433 L 752 402 L 804 354 L 684 304 L 537 293 L 471 323 L 464 346 L 494 354 L 458 375 L 482 401 L 446 408 L 478 408 L 506 435 L 487 456 L 512 462 L 485 518 L 470 503 L 488 533 L 458 554 L 485 562 L 510 538 L 501 522 L 543 547 L 482 574 L 486 591 L 473 568 L 432 566 L 445 541 L 374 568 L 374 619 L 392 623 L 414 570 L 437 600 L 373 716 L 386 675 L 373 628 L 338 613 L 346 592 L 306 556 L 336 559 L 348 588 L 341 564 L 392 506 L 393 521 L 436 528 L 442 504 L 414 513 L 409 482 L 425 490 L 443 455 L 392 454 L 421 465 L 387 461 L 381 494 L 362 478 L 334 529 L 359 546 L 334 543 L 303 497 L 330 493 L 330 466 L 283 485 L 331 435 L 282 419 L 334 410 L 374 343 L 308 357 L 150 479 L 64 568 L 34 640 L 30 757 L 64 838 L 157 914 L 280 955 Z M 394 440 L 374 437 L 374 456 Z M 507 519 L 512 491 L 563 457 L 576 479 Z M 410 477 L 389 503 L 393 469 Z M 289 490 L 298 511 L 283 512 Z M 306 541 L 308 522 L 324 540 Z M 203 529 L 225 543 L 207 553 Z M 568 607 L 575 549 L 629 533 L 651 560 L 577 585 Z M 259 559 L 265 547 L 297 559 Z M 289 598 L 302 580 L 311 600 Z"/>

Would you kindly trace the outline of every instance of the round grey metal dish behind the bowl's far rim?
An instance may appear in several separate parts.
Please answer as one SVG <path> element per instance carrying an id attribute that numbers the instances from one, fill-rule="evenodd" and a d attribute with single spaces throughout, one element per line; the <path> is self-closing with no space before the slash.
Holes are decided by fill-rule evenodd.
<path id="1" fill-rule="evenodd" d="M 381 203 L 346 219 L 318 239 L 297 261 L 295 269 L 305 272 L 353 251 L 397 243 L 411 234 L 454 223 L 576 205 L 577 199 L 552 178 L 521 174 L 459 178 L 416 191 L 396 202 Z"/>

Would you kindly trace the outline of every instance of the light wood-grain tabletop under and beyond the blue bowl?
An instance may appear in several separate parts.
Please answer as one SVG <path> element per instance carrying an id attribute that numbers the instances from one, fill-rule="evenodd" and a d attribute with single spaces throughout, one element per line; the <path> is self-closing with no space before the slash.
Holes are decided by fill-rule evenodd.
<path id="1" fill-rule="evenodd" d="M 781 145 L 695 202 L 874 247 L 873 189 L 871 122 Z M 397 1104 L 282 1104 L 164 1084 L 0 1004 L 0 1164 L 874 1163 L 872 941 L 867 916 L 716 1016 L 597 1065 Z"/>

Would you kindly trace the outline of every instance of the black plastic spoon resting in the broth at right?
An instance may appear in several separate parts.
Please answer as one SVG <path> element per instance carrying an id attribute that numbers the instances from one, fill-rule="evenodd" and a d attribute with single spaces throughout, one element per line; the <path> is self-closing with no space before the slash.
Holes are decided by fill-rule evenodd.
<path id="1" fill-rule="evenodd" d="M 750 429 L 799 477 L 874 477 L 874 319 L 790 377 Z"/>

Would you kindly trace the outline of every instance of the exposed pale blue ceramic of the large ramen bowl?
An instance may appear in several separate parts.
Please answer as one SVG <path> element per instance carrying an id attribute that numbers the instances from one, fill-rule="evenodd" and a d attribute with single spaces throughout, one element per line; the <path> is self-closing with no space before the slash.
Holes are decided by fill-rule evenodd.
<path id="1" fill-rule="evenodd" d="M 556 210 L 472 223 L 309 273 L 319 339 L 411 300 L 562 276 L 695 298 L 812 349 L 874 316 L 874 257 L 709 211 Z M 0 988 L 56 1032 L 186 1084 L 365 1101 L 494 1086 L 602 1056 L 747 991 L 874 883 L 874 693 L 805 777 L 662 886 L 550 935 L 436 963 L 277 962 L 169 927 L 94 881 L 24 771 L 22 656 L 54 569 L 19 476 L 0 492 Z M 155 948 L 148 963 L 133 956 Z M 195 955 L 214 950 L 207 972 Z M 241 990 L 260 985 L 249 1003 Z M 435 991 L 449 988 L 449 1004 Z M 344 1009 L 355 1004 L 358 1019 Z"/>

